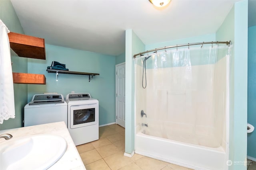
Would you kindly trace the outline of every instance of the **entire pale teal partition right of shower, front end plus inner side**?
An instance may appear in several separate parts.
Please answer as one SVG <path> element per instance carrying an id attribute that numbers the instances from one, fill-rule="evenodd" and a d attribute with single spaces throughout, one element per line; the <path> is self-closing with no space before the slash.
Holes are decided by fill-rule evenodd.
<path id="1" fill-rule="evenodd" d="M 246 170 L 246 164 L 236 164 L 234 161 L 244 161 L 247 155 L 248 0 L 235 3 L 218 29 L 216 39 L 230 39 L 233 44 L 229 115 L 229 160 L 232 160 L 233 164 L 229 169 Z"/>

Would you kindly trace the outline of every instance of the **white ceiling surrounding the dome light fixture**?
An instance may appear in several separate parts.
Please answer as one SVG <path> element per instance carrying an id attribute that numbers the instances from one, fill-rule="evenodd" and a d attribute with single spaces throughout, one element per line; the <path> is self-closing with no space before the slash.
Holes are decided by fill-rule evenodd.
<path id="1" fill-rule="evenodd" d="M 25 34 L 107 55 L 125 52 L 126 29 L 144 44 L 215 33 L 238 1 L 172 0 L 159 9 L 148 0 L 11 0 Z"/>

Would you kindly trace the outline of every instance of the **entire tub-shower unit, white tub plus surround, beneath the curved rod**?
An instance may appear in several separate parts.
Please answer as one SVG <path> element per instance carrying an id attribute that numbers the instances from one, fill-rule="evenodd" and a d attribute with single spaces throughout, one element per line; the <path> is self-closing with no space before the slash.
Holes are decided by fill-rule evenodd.
<path id="1" fill-rule="evenodd" d="M 231 49 L 152 54 L 146 61 L 145 89 L 143 57 L 136 59 L 135 153 L 196 170 L 228 169 Z"/>

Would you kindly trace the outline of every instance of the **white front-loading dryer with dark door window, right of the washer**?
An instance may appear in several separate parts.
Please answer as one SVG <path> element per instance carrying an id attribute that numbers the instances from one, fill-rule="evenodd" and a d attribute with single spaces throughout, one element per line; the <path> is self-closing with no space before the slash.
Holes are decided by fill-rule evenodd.
<path id="1" fill-rule="evenodd" d="M 68 104 L 68 131 L 74 144 L 99 139 L 99 102 L 89 93 L 72 93 L 66 96 Z"/>

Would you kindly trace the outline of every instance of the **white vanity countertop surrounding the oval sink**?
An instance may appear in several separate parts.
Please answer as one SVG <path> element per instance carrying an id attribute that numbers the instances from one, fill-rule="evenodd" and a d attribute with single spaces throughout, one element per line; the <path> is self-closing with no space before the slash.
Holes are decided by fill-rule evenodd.
<path id="1" fill-rule="evenodd" d="M 59 135 L 66 140 L 67 149 L 64 155 L 48 170 L 86 170 L 64 121 L 0 131 L 0 134 L 4 133 L 10 133 L 13 136 L 12 139 L 38 134 Z M 0 143 L 5 141 L 5 139 L 0 139 Z"/>

